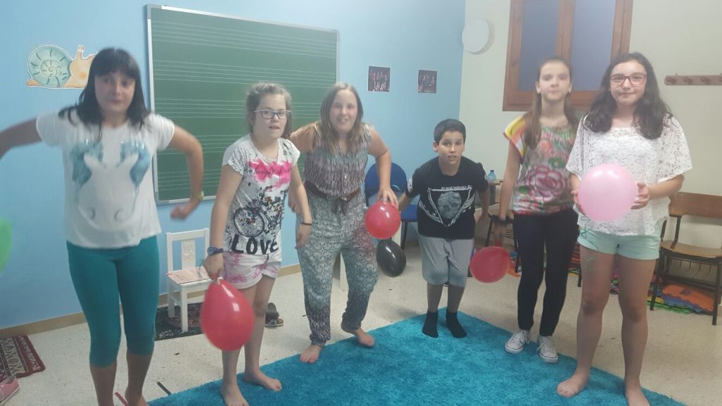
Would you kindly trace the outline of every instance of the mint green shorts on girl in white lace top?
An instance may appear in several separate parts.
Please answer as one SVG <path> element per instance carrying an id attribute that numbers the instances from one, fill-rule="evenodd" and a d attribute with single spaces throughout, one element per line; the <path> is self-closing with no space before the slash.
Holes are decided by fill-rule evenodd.
<path id="1" fill-rule="evenodd" d="M 651 236 L 617 236 L 599 231 L 581 230 L 577 241 L 581 246 L 603 254 L 619 254 L 630 259 L 643 261 L 659 258 L 659 233 Z"/>

